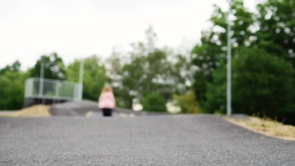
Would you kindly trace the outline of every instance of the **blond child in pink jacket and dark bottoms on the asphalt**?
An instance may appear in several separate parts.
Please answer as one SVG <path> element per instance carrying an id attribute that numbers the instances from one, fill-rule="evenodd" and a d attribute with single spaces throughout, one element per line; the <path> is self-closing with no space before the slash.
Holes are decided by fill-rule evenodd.
<path id="1" fill-rule="evenodd" d="M 102 110 L 103 116 L 111 116 L 113 109 L 116 108 L 114 93 L 108 85 L 102 88 L 102 93 L 98 98 L 98 108 Z"/>

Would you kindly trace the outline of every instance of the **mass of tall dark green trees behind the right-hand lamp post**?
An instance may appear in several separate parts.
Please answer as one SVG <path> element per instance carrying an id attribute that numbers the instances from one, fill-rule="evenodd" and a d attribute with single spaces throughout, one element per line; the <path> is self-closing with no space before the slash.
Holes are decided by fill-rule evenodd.
<path id="1" fill-rule="evenodd" d="M 242 0 L 231 3 L 234 113 L 272 118 L 295 113 L 294 4 L 268 0 L 249 12 Z M 193 89 L 202 109 L 211 113 L 226 110 L 226 14 L 215 6 L 212 27 L 203 31 L 201 43 L 191 52 L 198 68 Z"/>

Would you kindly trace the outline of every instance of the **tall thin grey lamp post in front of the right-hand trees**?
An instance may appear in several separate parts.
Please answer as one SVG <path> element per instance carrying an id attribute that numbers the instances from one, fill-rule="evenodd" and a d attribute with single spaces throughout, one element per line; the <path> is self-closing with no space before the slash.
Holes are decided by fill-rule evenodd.
<path id="1" fill-rule="evenodd" d="M 227 13 L 227 89 L 226 89 L 226 115 L 231 116 L 231 0 Z"/>

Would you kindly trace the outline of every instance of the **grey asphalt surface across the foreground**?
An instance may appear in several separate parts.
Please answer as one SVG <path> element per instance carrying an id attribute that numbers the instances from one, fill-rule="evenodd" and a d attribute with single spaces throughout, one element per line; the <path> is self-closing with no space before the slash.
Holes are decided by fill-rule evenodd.
<path id="1" fill-rule="evenodd" d="M 209 115 L 0 118 L 0 165 L 295 165 L 295 142 Z"/>

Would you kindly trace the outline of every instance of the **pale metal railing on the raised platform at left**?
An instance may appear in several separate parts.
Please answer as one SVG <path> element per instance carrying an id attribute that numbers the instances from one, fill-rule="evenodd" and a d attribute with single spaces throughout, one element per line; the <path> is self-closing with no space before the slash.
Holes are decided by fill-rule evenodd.
<path id="1" fill-rule="evenodd" d="M 31 77 L 26 80 L 25 98 L 81 100 L 82 84 Z"/>

